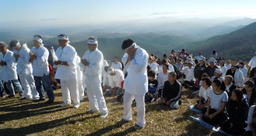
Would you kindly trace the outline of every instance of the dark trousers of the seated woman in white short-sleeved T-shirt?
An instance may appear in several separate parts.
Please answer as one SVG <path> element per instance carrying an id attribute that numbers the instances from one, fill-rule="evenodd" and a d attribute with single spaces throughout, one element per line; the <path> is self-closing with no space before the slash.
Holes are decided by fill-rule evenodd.
<path id="1" fill-rule="evenodd" d="M 209 110 L 209 115 L 215 113 L 217 110 L 210 108 Z M 227 115 L 223 111 L 222 113 L 216 115 L 212 119 L 209 117 L 205 117 L 205 115 L 202 117 L 205 122 L 208 122 L 211 125 L 220 125 L 222 124 L 225 120 L 227 120 Z"/>

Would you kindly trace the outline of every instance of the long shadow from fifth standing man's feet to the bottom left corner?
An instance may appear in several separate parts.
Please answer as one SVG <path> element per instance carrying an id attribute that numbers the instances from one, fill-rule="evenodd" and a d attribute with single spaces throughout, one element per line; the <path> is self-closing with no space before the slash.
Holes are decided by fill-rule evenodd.
<path id="1" fill-rule="evenodd" d="M 79 114 L 72 115 L 69 117 L 64 117 L 64 118 L 58 119 L 58 120 L 52 120 L 52 121 L 48 121 L 48 122 L 32 124 L 32 125 L 29 125 L 26 127 L 19 127 L 19 128 L 14 128 L 14 129 L 13 128 L 0 129 L 0 134 L 2 136 L 13 136 L 13 135 L 24 136 L 24 135 L 38 133 L 41 131 L 52 129 L 54 127 L 59 127 L 59 126 L 65 125 L 65 124 L 75 124 L 76 122 L 83 122 L 90 118 L 98 117 L 98 115 L 95 115 L 92 117 L 85 117 L 85 118 L 81 118 L 78 120 L 71 120 L 71 118 L 79 117 L 81 115 L 83 115 L 83 113 L 79 113 Z M 67 121 L 67 120 L 71 120 L 71 121 Z"/>

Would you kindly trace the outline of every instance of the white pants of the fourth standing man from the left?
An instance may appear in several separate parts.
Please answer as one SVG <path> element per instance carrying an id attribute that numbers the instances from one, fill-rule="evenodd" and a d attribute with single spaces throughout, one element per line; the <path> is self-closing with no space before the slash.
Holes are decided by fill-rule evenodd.
<path id="1" fill-rule="evenodd" d="M 71 103 L 70 95 L 73 98 L 73 104 L 74 105 L 80 105 L 79 100 L 79 92 L 77 89 L 77 81 L 76 79 L 72 80 L 60 80 L 60 84 L 62 87 L 62 99 L 65 104 Z"/>

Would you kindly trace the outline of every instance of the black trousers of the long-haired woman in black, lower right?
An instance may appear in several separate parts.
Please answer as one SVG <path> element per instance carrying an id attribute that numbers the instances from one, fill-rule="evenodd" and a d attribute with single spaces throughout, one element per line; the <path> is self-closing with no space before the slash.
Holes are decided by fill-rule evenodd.
<path id="1" fill-rule="evenodd" d="M 233 127 L 230 128 L 230 120 L 226 120 L 220 125 L 220 129 L 228 134 L 237 136 L 237 135 L 242 135 L 244 133 L 245 131 L 244 128 L 246 126 L 247 125 L 245 124 L 245 122 L 242 124 L 233 123 Z"/>

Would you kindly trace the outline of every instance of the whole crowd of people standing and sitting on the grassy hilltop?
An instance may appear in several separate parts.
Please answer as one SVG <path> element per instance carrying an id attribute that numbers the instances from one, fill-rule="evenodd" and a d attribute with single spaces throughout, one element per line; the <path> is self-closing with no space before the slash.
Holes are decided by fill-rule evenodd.
<path id="1" fill-rule="evenodd" d="M 0 42 L 0 96 L 15 96 L 14 85 L 21 99 L 33 102 L 45 101 L 45 91 L 50 104 L 55 100 L 53 90 L 61 85 L 63 103 L 61 107 L 79 108 L 88 96 L 90 110 L 100 117 L 108 116 L 104 96 L 116 96 L 123 102 L 124 113 L 119 123 L 132 120 L 131 105 L 135 99 L 137 124 L 134 129 L 145 126 L 145 103 L 157 101 L 159 105 L 175 110 L 182 104 L 183 87 L 193 90 L 199 97 L 195 103 L 201 110 L 202 119 L 212 125 L 219 125 L 228 134 L 256 135 L 256 52 L 249 62 L 250 73 L 242 60 L 231 65 L 230 60 L 218 58 L 216 50 L 206 58 L 188 54 L 185 49 L 171 51 L 162 59 L 136 45 L 131 39 L 123 41 L 124 55 L 119 62 L 104 59 L 98 50 L 95 37 L 88 38 L 89 50 L 82 58 L 69 45 L 68 36 L 58 35 L 59 47 L 52 48 L 54 65 L 48 63 L 49 51 L 43 45 L 43 38 L 34 35 L 32 49 L 18 40 Z M 10 51 L 10 50 L 12 51 Z M 247 75 L 249 74 L 249 78 Z M 6 87 L 5 87 L 6 86 Z M 247 129 L 245 130 L 244 128 Z"/>

